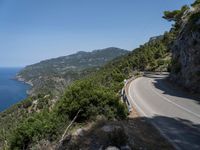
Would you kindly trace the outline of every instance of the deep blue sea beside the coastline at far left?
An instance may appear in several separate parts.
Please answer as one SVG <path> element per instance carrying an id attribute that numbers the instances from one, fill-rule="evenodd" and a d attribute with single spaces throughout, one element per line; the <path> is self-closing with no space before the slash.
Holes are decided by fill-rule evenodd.
<path id="1" fill-rule="evenodd" d="M 22 68 L 0 68 L 0 112 L 25 99 L 30 86 L 14 80 Z"/>

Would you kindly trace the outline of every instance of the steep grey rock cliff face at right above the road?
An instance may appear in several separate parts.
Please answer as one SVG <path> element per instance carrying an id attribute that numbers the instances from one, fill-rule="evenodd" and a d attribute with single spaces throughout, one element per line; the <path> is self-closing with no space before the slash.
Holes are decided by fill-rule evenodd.
<path id="1" fill-rule="evenodd" d="M 178 36 L 172 44 L 171 79 L 200 92 L 200 9 L 192 8 L 181 18 Z"/>

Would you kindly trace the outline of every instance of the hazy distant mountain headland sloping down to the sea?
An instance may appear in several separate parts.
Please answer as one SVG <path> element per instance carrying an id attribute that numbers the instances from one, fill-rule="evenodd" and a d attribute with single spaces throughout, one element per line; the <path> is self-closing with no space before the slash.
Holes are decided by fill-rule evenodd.
<path id="1" fill-rule="evenodd" d="M 58 94 L 75 79 L 128 52 L 115 47 L 92 52 L 80 51 L 27 66 L 17 75 L 17 79 L 33 86 L 30 94 L 41 92 Z"/>

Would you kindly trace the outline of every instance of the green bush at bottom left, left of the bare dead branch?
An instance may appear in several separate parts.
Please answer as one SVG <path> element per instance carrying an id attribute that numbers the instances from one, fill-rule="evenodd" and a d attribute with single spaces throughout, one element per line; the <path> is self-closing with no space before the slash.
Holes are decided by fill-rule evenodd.
<path id="1" fill-rule="evenodd" d="M 10 149 L 27 149 L 29 144 L 44 138 L 55 140 L 58 136 L 59 119 L 60 117 L 48 111 L 28 117 L 10 135 Z"/>

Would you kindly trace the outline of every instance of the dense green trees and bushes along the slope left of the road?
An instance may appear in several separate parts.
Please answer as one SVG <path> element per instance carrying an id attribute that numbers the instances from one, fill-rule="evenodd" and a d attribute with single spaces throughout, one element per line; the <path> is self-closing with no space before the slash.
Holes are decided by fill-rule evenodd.
<path id="1" fill-rule="evenodd" d="M 170 64 L 166 47 L 169 35 L 165 33 L 162 38 L 155 38 L 126 56 L 111 61 L 88 77 L 75 81 L 52 109 L 44 108 L 34 112 L 18 122 L 16 128 L 11 127 L 12 130 L 5 136 L 10 148 L 29 148 L 42 139 L 58 141 L 79 110 L 81 112 L 76 120 L 79 123 L 93 120 L 99 115 L 108 119 L 125 118 L 127 109 L 119 101 L 124 79 L 129 78 L 133 70 L 166 70 Z"/>

